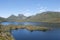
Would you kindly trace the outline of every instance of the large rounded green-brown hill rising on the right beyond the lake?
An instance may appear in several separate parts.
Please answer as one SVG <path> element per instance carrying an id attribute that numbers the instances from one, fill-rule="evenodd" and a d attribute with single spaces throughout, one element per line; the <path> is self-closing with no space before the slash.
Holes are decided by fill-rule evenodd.
<path id="1" fill-rule="evenodd" d="M 42 12 L 35 16 L 31 16 L 27 21 L 33 22 L 60 22 L 60 12 Z"/>

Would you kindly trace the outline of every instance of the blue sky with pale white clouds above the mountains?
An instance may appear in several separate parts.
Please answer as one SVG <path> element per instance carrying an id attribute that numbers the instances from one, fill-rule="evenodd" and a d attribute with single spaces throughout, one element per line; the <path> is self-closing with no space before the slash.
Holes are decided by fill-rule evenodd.
<path id="1" fill-rule="evenodd" d="M 60 12 L 60 0 L 0 0 L 0 17 L 31 16 L 45 11 Z"/>

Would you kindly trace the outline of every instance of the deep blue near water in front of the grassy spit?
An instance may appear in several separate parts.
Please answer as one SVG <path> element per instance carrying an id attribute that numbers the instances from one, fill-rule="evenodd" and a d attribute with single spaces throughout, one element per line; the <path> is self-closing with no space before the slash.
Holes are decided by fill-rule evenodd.
<path id="1" fill-rule="evenodd" d="M 15 40 L 60 40 L 60 30 L 28 31 L 26 29 L 12 30 Z"/>

